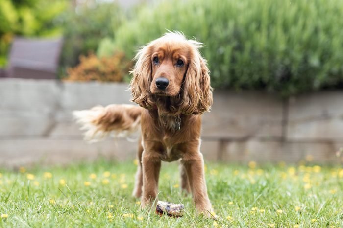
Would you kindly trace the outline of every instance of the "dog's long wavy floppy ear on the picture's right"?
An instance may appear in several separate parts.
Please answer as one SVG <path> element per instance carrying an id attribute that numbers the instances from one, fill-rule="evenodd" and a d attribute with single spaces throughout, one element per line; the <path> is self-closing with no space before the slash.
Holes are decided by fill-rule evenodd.
<path id="1" fill-rule="evenodd" d="M 209 70 L 197 47 L 193 49 L 193 57 L 183 82 L 183 99 L 180 105 L 183 114 L 209 112 L 213 103 Z"/>

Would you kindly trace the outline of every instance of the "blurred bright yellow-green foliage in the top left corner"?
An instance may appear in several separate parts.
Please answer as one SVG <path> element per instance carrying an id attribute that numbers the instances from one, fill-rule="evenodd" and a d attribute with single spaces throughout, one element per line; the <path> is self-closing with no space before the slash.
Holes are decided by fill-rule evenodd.
<path id="1" fill-rule="evenodd" d="M 66 7 L 66 0 L 0 0 L 0 67 L 14 36 L 61 35 L 56 18 Z"/>

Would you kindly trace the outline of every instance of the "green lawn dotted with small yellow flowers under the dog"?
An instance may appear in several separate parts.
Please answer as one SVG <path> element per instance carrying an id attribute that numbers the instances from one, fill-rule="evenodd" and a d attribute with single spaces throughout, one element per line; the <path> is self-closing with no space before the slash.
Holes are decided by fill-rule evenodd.
<path id="1" fill-rule="evenodd" d="M 162 166 L 159 199 L 185 204 L 184 217 L 141 210 L 131 196 L 135 169 L 98 160 L 1 170 L 0 227 L 343 227 L 342 167 L 207 164 L 218 221 L 180 193 L 176 163 Z"/>

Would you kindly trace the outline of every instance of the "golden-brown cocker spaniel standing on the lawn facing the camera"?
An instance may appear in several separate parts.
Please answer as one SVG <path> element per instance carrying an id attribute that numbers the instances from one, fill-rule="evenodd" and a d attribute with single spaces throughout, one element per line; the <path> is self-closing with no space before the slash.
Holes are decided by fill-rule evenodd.
<path id="1" fill-rule="evenodd" d="M 213 103 L 209 69 L 201 43 L 168 32 L 135 56 L 129 89 L 135 105 L 74 111 L 85 139 L 127 136 L 141 129 L 133 195 L 142 207 L 157 202 L 161 161 L 179 161 L 181 189 L 192 193 L 196 210 L 211 217 L 204 161 L 200 152 L 201 115 Z"/>

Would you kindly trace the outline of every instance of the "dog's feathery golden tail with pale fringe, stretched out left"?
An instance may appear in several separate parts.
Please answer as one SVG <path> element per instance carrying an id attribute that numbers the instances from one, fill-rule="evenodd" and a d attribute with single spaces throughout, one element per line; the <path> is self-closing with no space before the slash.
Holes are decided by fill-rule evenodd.
<path id="1" fill-rule="evenodd" d="M 129 136 L 140 130 L 143 108 L 134 105 L 96 106 L 90 110 L 73 111 L 81 130 L 85 130 L 84 139 L 96 142 L 108 136 Z"/>

